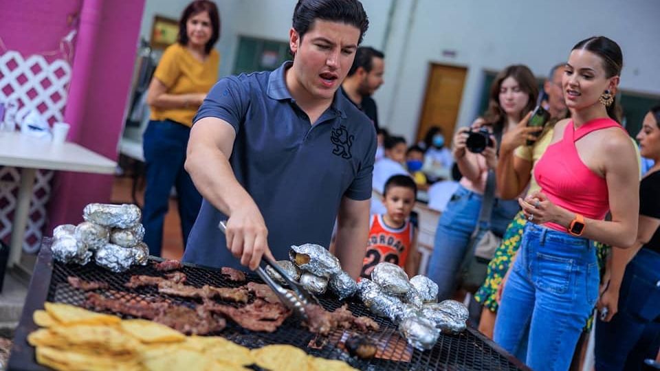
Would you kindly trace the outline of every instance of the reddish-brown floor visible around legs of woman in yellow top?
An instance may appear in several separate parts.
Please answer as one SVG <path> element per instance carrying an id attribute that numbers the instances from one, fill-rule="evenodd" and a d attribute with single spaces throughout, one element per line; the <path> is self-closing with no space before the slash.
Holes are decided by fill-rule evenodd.
<path id="1" fill-rule="evenodd" d="M 133 203 L 131 198 L 133 179 L 129 177 L 115 177 L 112 188 L 113 203 Z M 137 201 L 144 205 L 144 188 L 137 190 Z M 177 200 L 170 199 L 170 207 L 165 216 L 162 255 L 167 259 L 180 259 L 184 254 L 184 239 L 181 236 L 181 222 L 177 209 Z"/>

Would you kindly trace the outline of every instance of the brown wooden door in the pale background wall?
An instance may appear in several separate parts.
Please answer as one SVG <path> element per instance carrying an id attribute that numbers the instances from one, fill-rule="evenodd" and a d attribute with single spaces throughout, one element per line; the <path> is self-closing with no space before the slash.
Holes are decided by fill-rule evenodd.
<path id="1" fill-rule="evenodd" d="M 426 95 L 417 126 L 417 141 L 421 141 L 431 126 L 440 126 L 445 135 L 445 146 L 449 146 L 454 136 L 456 117 L 461 108 L 463 85 L 467 69 L 432 63 Z"/>

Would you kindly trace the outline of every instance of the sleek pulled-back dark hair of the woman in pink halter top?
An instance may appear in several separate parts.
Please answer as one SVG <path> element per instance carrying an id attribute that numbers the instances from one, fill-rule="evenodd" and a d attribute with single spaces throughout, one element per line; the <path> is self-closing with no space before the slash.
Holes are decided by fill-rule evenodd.
<path id="1" fill-rule="evenodd" d="M 591 36 L 575 44 L 573 49 L 586 50 L 599 56 L 603 61 L 603 68 L 607 78 L 621 76 L 621 69 L 624 68 L 624 54 L 621 52 L 619 44 L 605 36 Z M 614 102 L 607 107 L 607 115 L 621 124 L 621 107 L 614 97 Z"/>

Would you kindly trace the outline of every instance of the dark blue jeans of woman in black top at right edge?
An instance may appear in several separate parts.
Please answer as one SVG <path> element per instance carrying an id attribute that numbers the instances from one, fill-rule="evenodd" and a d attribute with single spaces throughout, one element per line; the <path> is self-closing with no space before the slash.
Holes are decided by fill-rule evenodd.
<path id="1" fill-rule="evenodd" d="M 641 370 L 660 342 L 660 254 L 640 249 L 619 289 L 619 311 L 596 324 L 596 370 Z"/>

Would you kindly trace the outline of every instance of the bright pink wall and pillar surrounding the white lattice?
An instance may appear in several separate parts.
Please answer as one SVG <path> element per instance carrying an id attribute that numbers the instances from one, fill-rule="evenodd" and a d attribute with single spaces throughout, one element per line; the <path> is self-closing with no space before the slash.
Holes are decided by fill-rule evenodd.
<path id="1" fill-rule="evenodd" d="M 68 139 L 110 159 L 118 157 L 143 10 L 144 0 L 0 0 L 0 54 L 65 58 L 60 40 L 78 30 L 69 60 Z M 78 223 L 87 203 L 109 201 L 111 188 L 110 175 L 59 172 L 45 230 Z"/>

